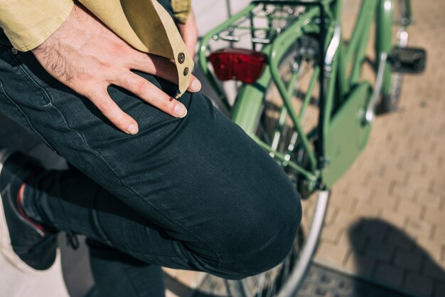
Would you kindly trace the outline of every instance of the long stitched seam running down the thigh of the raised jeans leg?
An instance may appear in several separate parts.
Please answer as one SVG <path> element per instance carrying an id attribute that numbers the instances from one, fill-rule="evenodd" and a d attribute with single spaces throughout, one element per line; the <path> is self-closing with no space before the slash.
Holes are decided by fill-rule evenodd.
<path id="1" fill-rule="evenodd" d="M 65 115 L 63 115 L 63 113 L 53 104 L 53 103 L 49 103 L 48 104 L 50 107 L 54 108 L 56 110 L 57 113 L 59 113 L 60 117 L 63 119 L 63 122 L 65 123 L 66 127 L 68 127 L 69 130 L 75 132 L 75 134 L 77 134 L 78 137 L 80 137 L 80 139 L 82 140 L 82 143 L 85 145 L 85 147 L 90 150 L 91 152 L 93 152 L 96 157 L 98 157 L 100 160 L 102 160 L 102 162 L 104 162 L 104 165 L 106 165 L 109 170 L 111 170 L 114 174 L 114 176 L 122 183 L 122 185 L 124 187 L 126 187 L 127 189 L 129 189 L 130 192 L 133 192 L 136 197 L 139 197 L 139 199 L 141 199 L 142 202 L 149 204 L 149 206 L 151 207 L 151 209 L 154 209 L 155 212 L 157 212 L 158 214 L 161 214 L 162 217 L 165 217 L 166 219 L 168 219 L 170 222 L 173 222 L 174 224 L 176 224 L 176 226 L 179 226 L 181 229 L 186 230 L 189 234 L 193 235 L 196 239 L 198 239 L 201 243 L 205 244 L 205 246 L 208 246 L 208 248 L 213 251 L 213 253 L 215 253 L 215 255 L 218 257 L 218 260 L 220 261 L 220 255 L 218 254 L 217 251 L 215 251 L 211 246 L 208 245 L 208 243 L 206 243 L 205 241 L 203 241 L 202 239 L 200 239 L 200 237 L 196 234 L 194 234 L 191 230 L 189 230 L 188 228 L 186 228 L 185 226 L 181 226 L 181 224 L 179 224 L 178 222 L 176 222 L 174 219 L 172 219 L 171 217 L 168 217 L 168 215 L 164 214 L 163 212 L 161 212 L 159 209 L 157 209 L 156 207 L 154 207 L 153 204 L 151 204 L 150 202 L 146 201 L 138 192 L 136 192 L 136 190 L 132 189 L 132 187 L 129 187 L 129 185 L 127 185 L 124 180 L 119 177 L 119 175 L 115 172 L 115 170 L 112 168 L 111 165 L 108 164 L 108 162 L 106 160 L 104 160 L 104 158 L 100 155 L 99 152 L 97 152 L 96 150 L 94 150 L 92 147 L 90 147 L 90 145 L 88 145 L 87 140 L 85 139 L 85 137 L 82 135 L 82 133 L 80 133 L 79 131 L 73 129 L 72 127 L 70 127 L 70 125 L 68 124 L 68 121 L 65 118 Z"/>

